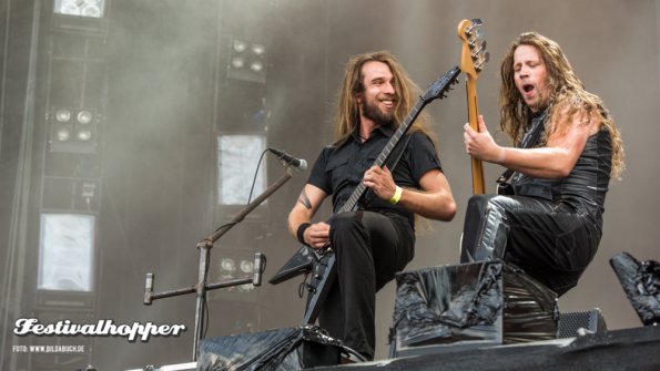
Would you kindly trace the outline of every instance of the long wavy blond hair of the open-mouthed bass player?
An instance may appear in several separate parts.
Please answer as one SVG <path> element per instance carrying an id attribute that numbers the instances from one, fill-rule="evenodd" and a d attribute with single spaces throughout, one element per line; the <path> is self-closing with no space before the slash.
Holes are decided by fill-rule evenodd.
<path id="1" fill-rule="evenodd" d="M 625 167 L 623 143 L 611 114 L 609 114 L 599 96 L 585 90 L 582 82 L 570 66 L 559 44 L 539 33 L 526 32 L 520 34 L 511 43 L 509 52 L 501 62 L 501 87 L 499 92 L 501 130 L 508 133 L 515 143 L 519 143 L 532 113 L 530 107 L 525 104 L 514 79 L 514 53 L 520 45 L 536 48 L 548 71 L 547 84 L 550 89 L 550 96 L 545 105 L 550 109 L 548 122 L 554 123 L 554 125 L 547 127 L 547 132 L 557 131 L 560 124 L 566 123 L 570 116 L 580 110 L 586 113 L 586 117 L 589 120 L 596 116 L 610 133 L 612 141 L 612 174 L 615 177 L 619 177 Z"/>

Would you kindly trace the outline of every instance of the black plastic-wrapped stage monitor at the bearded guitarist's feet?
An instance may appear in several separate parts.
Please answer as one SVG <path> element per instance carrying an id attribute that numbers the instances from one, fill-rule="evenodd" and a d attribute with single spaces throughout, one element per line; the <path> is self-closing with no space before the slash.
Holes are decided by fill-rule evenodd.
<path id="1" fill-rule="evenodd" d="M 315 326 L 202 341 L 199 370 L 301 370 L 339 363 L 342 342 Z"/>

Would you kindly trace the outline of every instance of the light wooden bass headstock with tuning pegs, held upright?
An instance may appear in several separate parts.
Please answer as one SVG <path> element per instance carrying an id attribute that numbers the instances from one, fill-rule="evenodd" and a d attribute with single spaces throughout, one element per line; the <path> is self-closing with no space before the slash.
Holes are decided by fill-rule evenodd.
<path id="1" fill-rule="evenodd" d="M 481 30 L 483 24 L 480 19 L 464 19 L 458 23 L 458 38 L 463 43 L 460 69 L 471 80 L 477 80 L 489 56 L 486 51 L 486 34 Z"/>

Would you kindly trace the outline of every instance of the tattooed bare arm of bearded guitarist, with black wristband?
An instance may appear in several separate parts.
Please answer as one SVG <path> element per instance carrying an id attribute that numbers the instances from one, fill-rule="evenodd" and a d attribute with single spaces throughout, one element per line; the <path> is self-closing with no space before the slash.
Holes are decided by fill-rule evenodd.
<path id="1" fill-rule="evenodd" d="M 304 223 L 311 223 L 312 217 L 327 197 L 321 188 L 305 184 L 293 209 L 288 214 L 288 231 L 297 238 L 298 227 Z M 319 248 L 329 240 L 329 225 L 321 221 L 312 224 L 304 234 L 305 244 Z"/>

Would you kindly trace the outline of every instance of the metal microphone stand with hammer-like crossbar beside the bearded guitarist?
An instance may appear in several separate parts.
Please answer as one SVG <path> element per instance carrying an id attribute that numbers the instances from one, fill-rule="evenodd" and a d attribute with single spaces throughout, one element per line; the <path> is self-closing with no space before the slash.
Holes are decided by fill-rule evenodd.
<path id="1" fill-rule="evenodd" d="M 195 305 L 195 333 L 193 339 L 193 361 L 197 360 L 197 351 L 200 348 L 200 341 L 202 340 L 202 322 L 204 318 L 204 302 L 206 301 L 206 291 L 240 286 L 245 284 L 253 284 L 254 286 L 261 286 L 262 272 L 265 269 L 265 256 L 262 253 L 255 253 L 254 255 L 254 268 L 253 277 L 248 278 L 235 278 L 216 284 L 207 284 L 209 275 L 209 261 L 211 260 L 211 249 L 213 244 L 226 234 L 232 227 L 241 223 L 247 214 L 255 209 L 261 203 L 268 198 L 275 190 L 284 185 L 292 177 L 291 167 L 286 166 L 286 172 L 282 175 L 273 185 L 266 188 L 261 195 L 258 195 L 252 203 L 247 204 L 241 213 L 238 213 L 230 223 L 219 227 L 209 237 L 197 243 L 196 248 L 200 250 L 200 270 L 197 274 L 197 284 L 193 287 L 176 289 L 171 291 L 164 291 L 154 293 L 153 282 L 154 275 L 152 272 L 146 274 L 144 285 L 144 305 L 151 306 L 153 300 L 170 298 L 185 293 L 196 293 Z"/>

